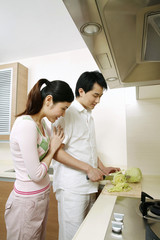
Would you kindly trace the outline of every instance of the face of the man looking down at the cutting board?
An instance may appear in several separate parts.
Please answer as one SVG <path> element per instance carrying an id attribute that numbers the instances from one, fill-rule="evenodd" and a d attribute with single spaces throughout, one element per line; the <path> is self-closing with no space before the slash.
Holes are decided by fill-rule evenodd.
<path id="1" fill-rule="evenodd" d="M 79 93 L 79 102 L 84 108 L 92 110 L 96 104 L 100 102 L 100 98 L 103 95 L 103 88 L 98 83 L 95 83 L 91 91 L 85 93 L 84 90 L 80 88 Z"/>

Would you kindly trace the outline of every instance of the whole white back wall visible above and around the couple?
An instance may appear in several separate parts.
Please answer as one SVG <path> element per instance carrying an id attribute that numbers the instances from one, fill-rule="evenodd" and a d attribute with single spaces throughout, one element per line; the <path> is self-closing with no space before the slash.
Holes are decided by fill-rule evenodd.
<path id="1" fill-rule="evenodd" d="M 76 81 L 81 73 L 98 70 L 87 48 L 43 57 L 21 59 L 19 62 L 29 69 L 28 90 L 40 78 L 47 78 L 49 80 L 64 80 L 70 84 L 74 91 Z M 108 90 L 104 93 L 99 106 L 93 110 L 98 152 L 105 165 L 126 166 L 123 91 L 123 89 Z M 7 161 L 10 158 L 9 145 L 5 147 L 5 150 L 3 149 L 3 156 L 1 155 L 2 148 L 4 148 L 4 144 L 0 144 L 0 161 L 4 159 Z"/>

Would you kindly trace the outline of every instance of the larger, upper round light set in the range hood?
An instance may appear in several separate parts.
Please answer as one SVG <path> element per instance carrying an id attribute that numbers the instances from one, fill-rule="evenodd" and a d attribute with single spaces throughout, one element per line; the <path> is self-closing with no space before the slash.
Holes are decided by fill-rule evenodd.
<path id="1" fill-rule="evenodd" d="M 87 36 L 92 36 L 101 32 L 102 27 L 99 23 L 85 23 L 81 28 L 80 31 L 82 34 Z"/>

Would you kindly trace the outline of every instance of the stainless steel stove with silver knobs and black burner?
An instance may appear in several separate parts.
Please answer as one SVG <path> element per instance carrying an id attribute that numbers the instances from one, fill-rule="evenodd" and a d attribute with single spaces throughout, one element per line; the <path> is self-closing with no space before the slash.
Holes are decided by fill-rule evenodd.
<path id="1" fill-rule="evenodd" d="M 104 240 L 160 240 L 160 201 L 117 197 Z"/>

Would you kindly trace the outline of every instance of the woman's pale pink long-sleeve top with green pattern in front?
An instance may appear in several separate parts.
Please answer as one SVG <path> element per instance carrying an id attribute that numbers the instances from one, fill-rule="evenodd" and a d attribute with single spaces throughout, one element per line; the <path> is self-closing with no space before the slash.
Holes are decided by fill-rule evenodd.
<path id="1" fill-rule="evenodd" d="M 40 194 L 50 187 L 48 166 L 41 163 L 49 148 L 49 132 L 44 119 L 42 125 L 45 136 L 29 115 L 18 117 L 12 127 L 10 149 L 16 172 L 16 194 Z"/>

